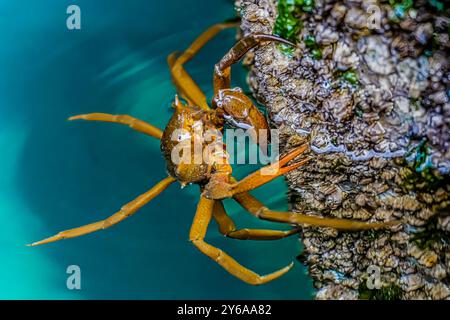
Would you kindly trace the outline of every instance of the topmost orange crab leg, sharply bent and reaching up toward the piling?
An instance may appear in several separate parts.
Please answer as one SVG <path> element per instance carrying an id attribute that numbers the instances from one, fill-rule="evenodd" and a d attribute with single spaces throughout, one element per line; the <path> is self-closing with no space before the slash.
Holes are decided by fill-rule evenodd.
<path id="1" fill-rule="evenodd" d="M 219 23 L 213 25 L 203 32 L 195 41 L 176 58 L 176 52 L 167 57 L 167 62 L 172 74 L 172 81 L 180 92 L 181 96 L 191 105 L 196 105 L 204 110 L 209 110 L 206 96 L 186 72 L 183 64 L 192 59 L 197 52 L 221 30 L 237 27 L 238 23 Z"/>

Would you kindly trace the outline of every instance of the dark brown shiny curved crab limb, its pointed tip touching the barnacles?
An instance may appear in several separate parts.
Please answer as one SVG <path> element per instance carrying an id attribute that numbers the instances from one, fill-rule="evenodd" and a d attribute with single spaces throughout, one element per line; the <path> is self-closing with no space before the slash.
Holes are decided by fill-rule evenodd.
<path id="1" fill-rule="evenodd" d="M 238 62 L 249 50 L 263 41 L 275 41 L 295 46 L 293 43 L 283 38 L 269 34 L 257 33 L 242 38 L 214 66 L 214 95 L 218 94 L 220 89 L 230 88 L 231 66 Z"/>

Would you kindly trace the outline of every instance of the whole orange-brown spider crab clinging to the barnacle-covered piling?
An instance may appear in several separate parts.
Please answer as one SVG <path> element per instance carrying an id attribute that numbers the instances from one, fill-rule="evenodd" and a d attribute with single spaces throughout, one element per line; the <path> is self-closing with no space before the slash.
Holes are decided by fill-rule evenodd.
<path id="1" fill-rule="evenodd" d="M 235 126 L 252 128 L 255 130 L 253 132 L 256 132 L 256 136 L 260 130 L 269 128 L 266 118 L 252 103 L 251 99 L 240 88 L 230 87 L 231 66 L 237 63 L 249 50 L 258 45 L 263 45 L 263 43 L 278 42 L 293 46 L 292 43 L 268 34 L 250 34 L 243 37 L 214 67 L 214 97 L 210 105 L 207 103 L 207 98 L 203 91 L 184 68 L 184 64 L 192 59 L 218 32 L 226 28 L 236 27 L 237 25 L 234 22 L 216 24 L 202 33 L 187 50 L 181 54 L 174 52 L 168 56 L 167 61 L 170 67 L 172 81 L 183 101 L 178 96 L 175 96 L 173 102 L 174 113 L 164 131 L 130 115 L 90 113 L 69 118 L 69 120 L 83 119 L 88 121 L 119 123 L 156 139 L 160 139 L 161 151 L 167 162 L 168 177 L 124 205 L 118 212 L 105 220 L 59 232 L 52 237 L 34 242 L 30 246 L 38 246 L 62 239 L 74 238 L 109 228 L 132 216 L 176 181 L 180 182 L 182 186 L 186 184 L 197 184 L 200 187 L 200 200 L 190 229 L 189 240 L 203 254 L 210 257 L 230 274 L 251 285 L 261 285 L 279 278 L 292 268 L 293 263 L 291 262 L 284 268 L 267 275 L 259 275 L 253 272 L 239 264 L 224 251 L 205 241 L 206 230 L 212 219 L 217 222 L 220 233 L 226 237 L 240 240 L 282 239 L 298 233 L 302 225 L 355 231 L 385 228 L 396 224 L 396 222 L 392 221 L 363 222 L 338 218 L 324 218 L 295 212 L 272 211 L 249 193 L 249 191 L 291 170 L 299 168 L 309 161 L 310 158 L 304 157 L 292 163 L 292 160 L 308 149 L 306 144 L 294 148 L 286 155 L 280 157 L 275 163 L 255 171 L 240 181 L 237 181 L 232 176 L 232 167 L 228 162 L 226 150 L 210 153 L 208 161 L 200 163 L 196 163 L 195 161 L 194 163 L 178 163 L 173 161 L 173 150 L 179 143 L 183 142 L 190 145 L 196 137 L 198 138 L 199 125 L 200 134 L 211 129 L 223 132 L 225 122 L 229 122 Z M 183 130 L 185 134 L 178 134 L 177 136 L 176 132 L 179 130 Z M 177 137 L 174 139 L 174 136 Z M 206 142 L 201 140 L 201 143 L 205 144 Z M 191 155 L 189 158 L 192 157 L 194 155 Z M 246 211 L 259 219 L 290 224 L 294 228 L 288 231 L 237 229 L 235 223 L 225 211 L 222 203 L 222 200 L 225 198 L 234 199 Z"/>

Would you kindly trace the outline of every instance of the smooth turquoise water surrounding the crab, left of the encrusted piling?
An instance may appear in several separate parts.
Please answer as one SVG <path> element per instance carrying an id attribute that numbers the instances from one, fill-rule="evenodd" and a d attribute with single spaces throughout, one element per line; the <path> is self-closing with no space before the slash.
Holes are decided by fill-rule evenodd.
<path id="1" fill-rule="evenodd" d="M 2 299 L 304 299 L 311 281 L 299 263 L 281 279 L 252 287 L 230 276 L 187 240 L 195 186 L 169 187 L 119 225 L 42 247 L 25 244 L 107 217 L 165 177 L 155 139 L 107 123 L 69 123 L 74 114 L 129 113 L 163 128 L 175 90 L 165 58 L 205 28 L 234 16 L 232 1 L 2 1 L 0 4 L 0 298 Z M 81 8 L 82 29 L 66 28 Z M 211 94 L 212 66 L 234 42 L 226 31 L 188 64 Z M 234 68 L 245 87 L 245 70 Z M 238 177 L 255 169 L 236 167 Z M 254 194 L 286 209 L 282 179 Z M 231 201 L 240 227 L 261 222 Z M 287 229 L 286 226 L 281 228 Z M 295 260 L 296 237 L 210 243 L 259 273 Z M 81 290 L 66 268 L 81 268 Z"/>

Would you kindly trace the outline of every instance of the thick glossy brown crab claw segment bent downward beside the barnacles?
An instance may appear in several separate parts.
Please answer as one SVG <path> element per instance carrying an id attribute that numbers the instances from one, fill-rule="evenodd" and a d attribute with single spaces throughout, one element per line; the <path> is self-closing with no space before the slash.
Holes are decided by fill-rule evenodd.
<path id="1" fill-rule="evenodd" d="M 266 117 L 241 88 L 219 90 L 213 99 L 213 106 L 230 125 L 246 130 L 255 143 L 270 143 Z"/>

